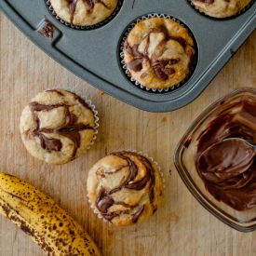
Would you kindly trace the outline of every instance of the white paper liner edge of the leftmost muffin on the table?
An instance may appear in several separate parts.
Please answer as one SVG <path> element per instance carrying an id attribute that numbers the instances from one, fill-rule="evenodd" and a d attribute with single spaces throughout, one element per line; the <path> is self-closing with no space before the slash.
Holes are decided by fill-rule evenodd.
<path id="1" fill-rule="evenodd" d="M 95 122 L 95 125 L 94 125 L 94 128 L 93 128 L 94 134 L 93 134 L 93 137 L 92 137 L 91 141 L 89 142 L 89 144 L 87 146 L 87 150 L 90 149 L 91 146 L 97 140 L 97 136 L 98 136 L 99 128 L 100 128 L 100 124 L 99 124 L 100 118 L 98 116 L 99 112 L 97 111 L 96 106 L 92 103 L 91 100 L 88 100 L 88 98 L 85 95 L 83 95 L 82 93 L 70 90 L 68 88 L 48 88 L 47 90 L 52 90 L 52 89 L 63 89 L 63 90 L 66 90 L 66 91 L 70 91 L 70 92 L 74 93 L 75 95 L 79 96 L 82 100 L 86 101 L 86 103 L 88 104 L 88 107 L 90 108 L 90 110 L 93 113 L 94 122 Z"/>

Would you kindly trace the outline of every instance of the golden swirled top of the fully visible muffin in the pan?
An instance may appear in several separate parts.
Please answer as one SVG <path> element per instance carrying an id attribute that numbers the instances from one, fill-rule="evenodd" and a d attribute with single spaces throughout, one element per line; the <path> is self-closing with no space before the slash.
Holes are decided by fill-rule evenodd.
<path id="1" fill-rule="evenodd" d="M 128 34 L 124 60 L 131 76 L 142 86 L 170 88 L 190 74 L 195 62 L 194 40 L 175 20 L 141 20 Z"/>

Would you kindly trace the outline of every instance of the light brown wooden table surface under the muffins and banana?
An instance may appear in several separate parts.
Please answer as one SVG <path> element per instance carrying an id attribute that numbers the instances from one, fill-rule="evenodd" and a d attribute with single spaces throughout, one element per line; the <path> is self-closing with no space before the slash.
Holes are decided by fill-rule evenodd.
<path id="1" fill-rule="evenodd" d="M 80 222 L 103 255 L 200 256 L 256 255 L 256 233 L 242 234 L 223 224 L 190 195 L 174 168 L 172 155 L 191 122 L 212 101 L 235 88 L 256 88 L 256 32 L 209 87 L 188 106 L 153 114 L 102 94 L 51 60 L 0 15 L 0 169 L 33 183 L 55 198 Z M 97 143 L 74 162 L 50 166 L 29 155 L 20 140 L 22 108 L 47 88 L 68 88 L 87 95 L 100 112 Z M 163 206 L 147 222 L 116 228 L 88 208 L 88 168 L 118 149 L 152 155 L 164 170 Z M 169 174 L 171 172 L 171 175 Z M 0 256 L 44 255 L 14 224 L 0 217 Z"/>

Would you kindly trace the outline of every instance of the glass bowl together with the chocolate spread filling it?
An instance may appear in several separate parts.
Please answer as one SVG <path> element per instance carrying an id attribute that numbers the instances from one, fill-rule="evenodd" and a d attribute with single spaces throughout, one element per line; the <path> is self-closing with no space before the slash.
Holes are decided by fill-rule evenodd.
<path id="1" fill-rule="evenodd" d="M 249 144 L 256 144 L 256 89 L 242 88 L 199 115 L 174 154 L 201 205 L 242 232 L 256 230 L 256 152 Z"/>

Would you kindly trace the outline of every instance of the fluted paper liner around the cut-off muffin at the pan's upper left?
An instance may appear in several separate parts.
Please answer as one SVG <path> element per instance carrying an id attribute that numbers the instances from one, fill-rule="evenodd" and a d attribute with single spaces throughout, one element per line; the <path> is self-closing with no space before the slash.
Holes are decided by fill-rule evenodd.
<path id="1" fill-rule="evenodd" d="M 51 6 L 50 0 L 45 0 L 48 11 L 50 12 L 50 14 L 56 20 L 60 21 L 61 24 L 65 25 L 66 27 L 72 28 L 74 30 L 80 30 L 80 31 L 88 31 L 88 30 L 98 29 L 98 28 L 104 26 L 105 24 L 107 24 L 108 22 L 110 22 L 111 20 L 113 20 L 115 18 L 116 14 L 118 13 L 118 11 L 120 10 L 120 8 L 122 7 L 123 2 L 124 2 L 124 0 L 119 0 L 118 3 L 117 3 L 117 6 L 115 7 L 115 10 L 113 11 L 113 13 L 108 18 L 106 18 L 105 20 L 102 20 L 101 22 L 99 22 L 97 24 L 93 24 L 93 25 L 79 26 L 79 25 L 73 25 L 68 21 L 62 20 L 57 15 L 54 8 Z"/>

